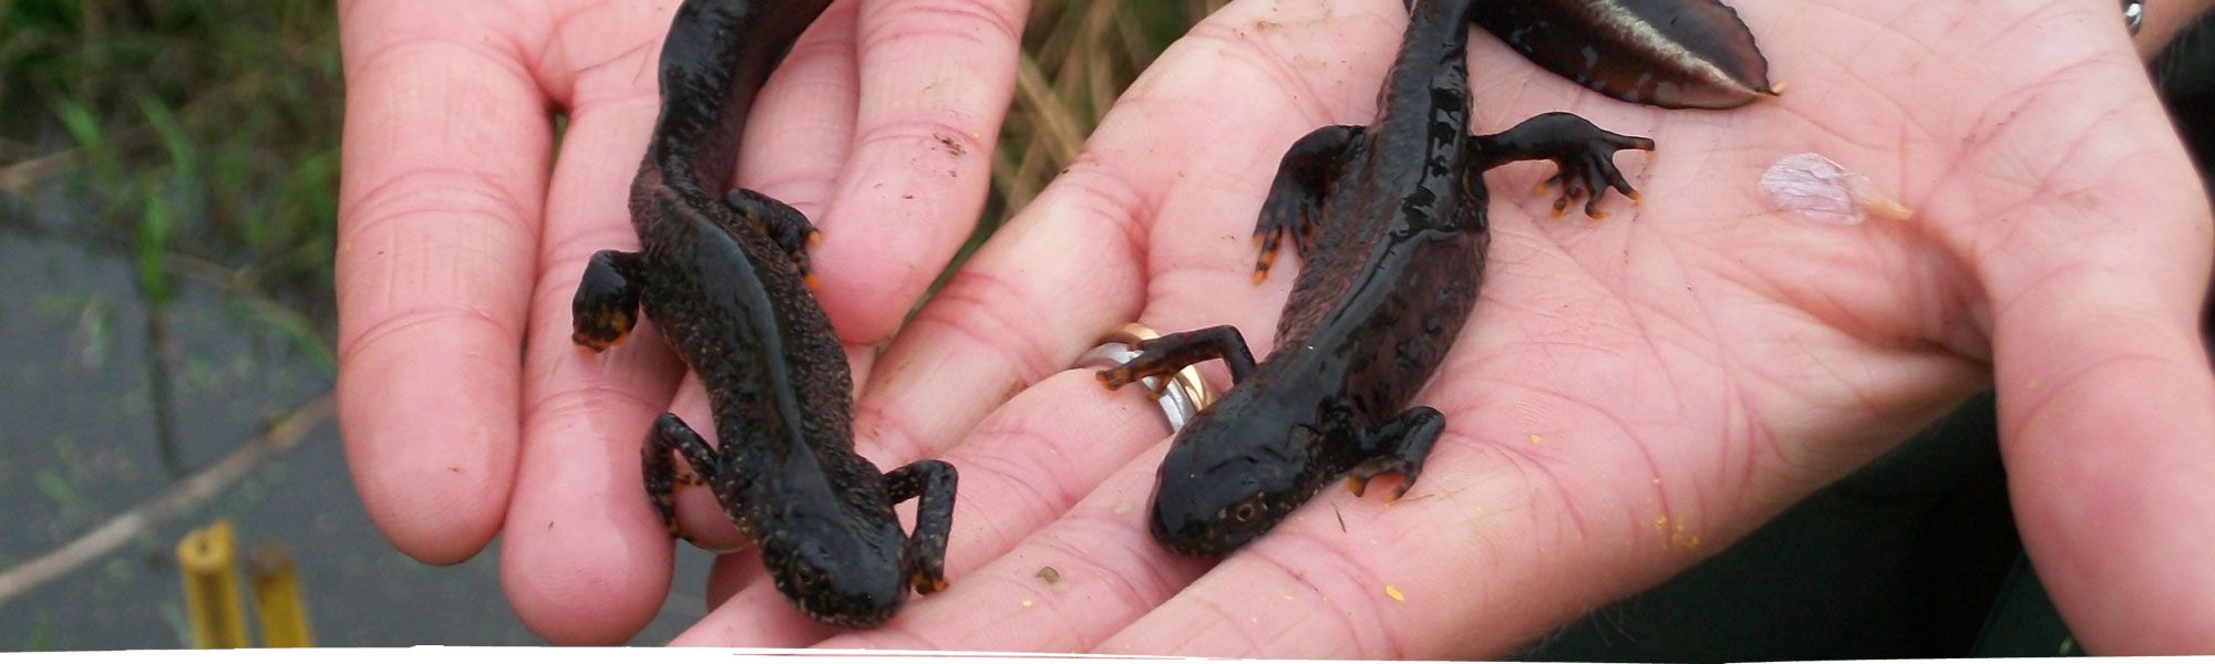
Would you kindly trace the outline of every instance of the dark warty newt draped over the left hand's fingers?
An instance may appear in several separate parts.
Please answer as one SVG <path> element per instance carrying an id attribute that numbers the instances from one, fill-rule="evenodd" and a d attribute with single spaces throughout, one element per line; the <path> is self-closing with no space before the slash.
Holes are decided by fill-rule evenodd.
<path id="1" fill-rule="evenodd" d="M 729 184 L 762 82 L 828 0 L 684 0 L 662 44 L 662 113 L 631 181 L 638 252 L 591 257 L 571 339 L 605 350 L 638 312 L 707 387 L 718 447 L 676 414 L 647 434 L 647 494 L 676 533 L 673 485 L 707 483 L 762 551 L 800 613 L 866 626 L 913 587 L 946 587 L 955 469 L 890 474 L 853 452 L 853 376 L 808 292 L 815 228 L 791 206 Z M 678 469 L 671 452 L 684 456 Z M 893 505 L 921 498 L 915 536 Z"/>

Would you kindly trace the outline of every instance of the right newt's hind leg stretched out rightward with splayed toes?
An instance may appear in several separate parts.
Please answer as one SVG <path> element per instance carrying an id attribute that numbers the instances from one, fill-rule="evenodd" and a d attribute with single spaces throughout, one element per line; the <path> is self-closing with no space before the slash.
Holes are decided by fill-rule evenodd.
<path id="1" fill-rule="evenodd" d="M 1584 201 L 1584 215 L 1606 219 L 1608 215 L 1599 212 L 1599 197 L 1610 186 L 1632 201 L 1639 199 L 1639 190 L 1630 188 L 1624 173 L 1615 168 L 1615 153 L 1652 151 L 1655 142 L 1593 126 L 1593 122 L 1570 113 L 1544 113 L 1508 131 L 1480 135 L 1471 146 L 1477 151 L 1477 159 L 1473 162 L 1477 170 L 1491 170 L 1506 162 L 1553 162 L 1559 170 L 1539 184 L 1539 193 L 1546 186 L 1562 188 L 1562 195 L 1553 199 L 1553 215 L 1562 217 L 1570 201 L 1590 195 Z"/>

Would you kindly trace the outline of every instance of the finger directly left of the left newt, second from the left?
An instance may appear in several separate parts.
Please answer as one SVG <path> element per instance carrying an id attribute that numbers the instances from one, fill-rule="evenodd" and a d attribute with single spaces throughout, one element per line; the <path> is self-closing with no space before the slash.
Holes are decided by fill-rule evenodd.
<path id="1" fill-rule="evenodd" d="M 640 323 L 607 352 L 569 341 L 569 303 L 598 250 L 638 250 L 629 184 L 658 113 L 653 62 L 671 7 L 594 4 L 538 64 L 567 108 L 538 243 L 523 383 L 523 465 L 501 547 L 501 589 L 532 633 L 618 644 L 669 589 L 669 536 L 645 498 L 638 449 L 682 365 Z M 585 27 L 591 27 L 587 31 Z"/>

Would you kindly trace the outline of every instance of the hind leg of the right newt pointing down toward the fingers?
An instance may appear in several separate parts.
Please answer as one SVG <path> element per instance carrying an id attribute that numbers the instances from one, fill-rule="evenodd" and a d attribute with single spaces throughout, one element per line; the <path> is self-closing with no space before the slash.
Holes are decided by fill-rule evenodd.
<path id="1" fill-rule="evenodd" d="M 1285 235 L 1291 235 L 1294 252 L 1302 261 L 1307 259 L 1307 250 L 1316 246 L 1316 226 L 1322 221 L 1322 199 L 1331 195 L 1345 155 L 1360 148 L 1362 135 L 1362 126 L 1325 126 L 1285 151 L 1276 181 L 1269 184 L 1269 197 L 1263 199 L 1260 221 L 1254 224 L 1254 241 L 1260 243 L 1260 257 L 1254 259 L 1254 283 L 1269 277 L 1269 266 L 1276 263 L 1276 248 Z"/>

